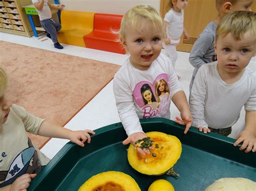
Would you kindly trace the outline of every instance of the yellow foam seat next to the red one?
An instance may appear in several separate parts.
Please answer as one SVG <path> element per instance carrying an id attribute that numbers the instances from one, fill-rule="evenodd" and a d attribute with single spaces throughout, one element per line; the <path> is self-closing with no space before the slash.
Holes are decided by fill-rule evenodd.
<path id="1" fill-rule="evenodd" d="M 93 31 L 94 12 L 63 10 L 60 13 L 62 29 L 58 32 L 59 43 L 86 47 L 84 36 Z"/>

